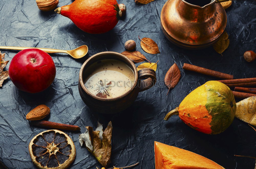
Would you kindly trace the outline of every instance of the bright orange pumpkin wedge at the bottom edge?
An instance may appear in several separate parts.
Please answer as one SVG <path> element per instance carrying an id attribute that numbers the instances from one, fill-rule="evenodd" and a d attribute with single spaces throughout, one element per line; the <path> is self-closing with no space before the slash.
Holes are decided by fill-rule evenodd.
<path id="1" fill-rule="evenodd" d="M 155 142 L 156 169 L 225 169 L 199 154 Z"/>

